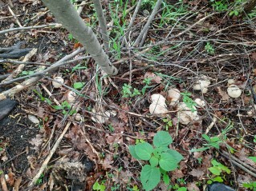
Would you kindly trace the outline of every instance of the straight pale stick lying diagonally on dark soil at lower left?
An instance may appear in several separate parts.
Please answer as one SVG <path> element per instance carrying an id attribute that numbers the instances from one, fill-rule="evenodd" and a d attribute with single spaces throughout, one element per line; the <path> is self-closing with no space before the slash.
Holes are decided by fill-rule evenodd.
<path id="1" fill-rule="evenodd" d="M 67 129 L 69 128 L 70 125 L 71 125 L 71 121 L 67 122 L 66 127 L 63 129 L 63 133 L 60 134 L 59 138 L 55 142 L 55 145 L 52 147 L 52 149 L 51 149 L 49 155 L 47 156 L 46 160 L 43 161 L 43 164 L 42 164 L 41 168 L 39 169 L 39 173 L 37 173 L 35 175 L 33 180 L 30 182 L 29 186 L 34 185 L 36 183 L 36 181 L 39 180 L 39 177 L 43 173 L 44 169 L 47 168 L 47 165 L 48 165 L 49 161 L 51 160 L 52 155 L 55 153 L 56 149 L 59 147 L 59 143 L 63 139 L 63 137 L 64 137 L 65 133 L 67 132 Z"/>

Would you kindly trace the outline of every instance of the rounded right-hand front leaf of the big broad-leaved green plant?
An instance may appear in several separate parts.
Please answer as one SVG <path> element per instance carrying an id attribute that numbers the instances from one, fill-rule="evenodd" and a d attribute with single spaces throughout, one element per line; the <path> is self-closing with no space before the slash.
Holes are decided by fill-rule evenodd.
<path id="1" fill-rule="evenodd" d="M 177 160 L 169 153 L 162 153 L 161 158 L 159 160 L 159 165 L 162 169 L 166 171 L 171 171 L 177 169 Z"/>

